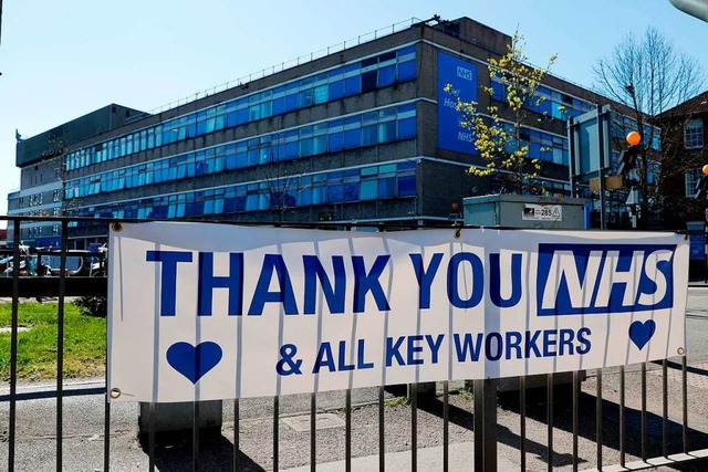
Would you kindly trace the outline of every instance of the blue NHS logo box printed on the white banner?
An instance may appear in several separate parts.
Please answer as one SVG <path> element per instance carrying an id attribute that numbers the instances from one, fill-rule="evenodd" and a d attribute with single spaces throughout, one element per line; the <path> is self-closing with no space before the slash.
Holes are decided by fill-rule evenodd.
<path id="1" fill-rule="evenodd" d="M 670 244 L 539 244 L 539 316 L 674 306 Z"/>

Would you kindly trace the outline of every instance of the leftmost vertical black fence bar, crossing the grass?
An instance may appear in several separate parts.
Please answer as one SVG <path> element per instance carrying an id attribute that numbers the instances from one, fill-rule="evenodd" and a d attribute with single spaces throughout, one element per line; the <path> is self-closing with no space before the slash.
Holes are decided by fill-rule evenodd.
<path id="1" fill-rule="evenodd" d="M 14 471 L 14 442 L 18 401 L 18 311 L 20 295 L 20 220 L 13 221 L 12 321 L 10 322 L 10 421 L 8 424 L 8 471 Z"/>

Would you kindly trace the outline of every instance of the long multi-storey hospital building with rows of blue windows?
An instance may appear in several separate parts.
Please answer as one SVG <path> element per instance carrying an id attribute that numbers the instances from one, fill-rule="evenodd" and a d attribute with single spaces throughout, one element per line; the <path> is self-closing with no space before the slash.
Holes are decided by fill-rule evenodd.
<path id="1" fill-rule="evenodd" d="M 496 190 L 467 172 L 485 162 L 444 88 L 480 109 L 501 102 L 487 60 L 510 42 L 468 18 L 434 19 L 160 113 L 111 105 L 80 118 L 95 129 L 18 144 L 22 188 L 9 213 L 439 224 L 464 197 Z M 538 93 L 521 135 L 546 190 L 566 195 L 566 119 L 608 101 L 550 75 Z M 58 235 L 21 229 L 38 245 Z M 70 230 L 76 247 L 105 235 Z"/>

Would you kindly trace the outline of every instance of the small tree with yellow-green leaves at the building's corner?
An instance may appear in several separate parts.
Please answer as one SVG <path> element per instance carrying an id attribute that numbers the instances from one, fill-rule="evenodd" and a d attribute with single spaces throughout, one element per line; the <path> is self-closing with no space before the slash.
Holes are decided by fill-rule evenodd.
<path id="1" fill-rule="evenodd" d="M 448 93 L 458 96 L 460 126 L 473 133 L 475 148 L 486 164 L 485 168 L 472 166 L 468 172 L 497 178 L 501 192 L 518 195 L 544 192 L 538 179 L 541 161 L 529 159 L 529 143 L 523 139 L 521 128 L 543 119 L 532 115 L 531 108 L 545 99 L 537 95 L 537 91 L 556 59 L 551 55 L 545 67 L 532 67 L 528 65 L 524 46 L 523 35 L 517 31 L 507 45 L 507 53 L 489 59 L 489 77 L 503 90 L 501 111 L 492 102 L 481 111 L 478 102 L 462 102 L 451 85 L 446 87 Z M 492 86 L 481 88 L 490 97 L 494 93 Z"/>

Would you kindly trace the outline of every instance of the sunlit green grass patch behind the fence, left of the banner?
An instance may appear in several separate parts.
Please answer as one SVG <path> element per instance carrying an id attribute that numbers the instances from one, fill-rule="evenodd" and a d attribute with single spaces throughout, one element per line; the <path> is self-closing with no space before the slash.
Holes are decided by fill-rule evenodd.
<path id="1" fill-rule="evenodd" d="M 0 304 L 0 327 L 10 327 L 12 304 Z M 18 380 L 56 378 L 56 303 L 20 303 L 18 333 Z M 64 378 L 103 376 L 106 355 L 106 319 L 81 314 L 64 305 Z M 0 381 L 10 380 L 10 333 L 0 333 Z"/>

